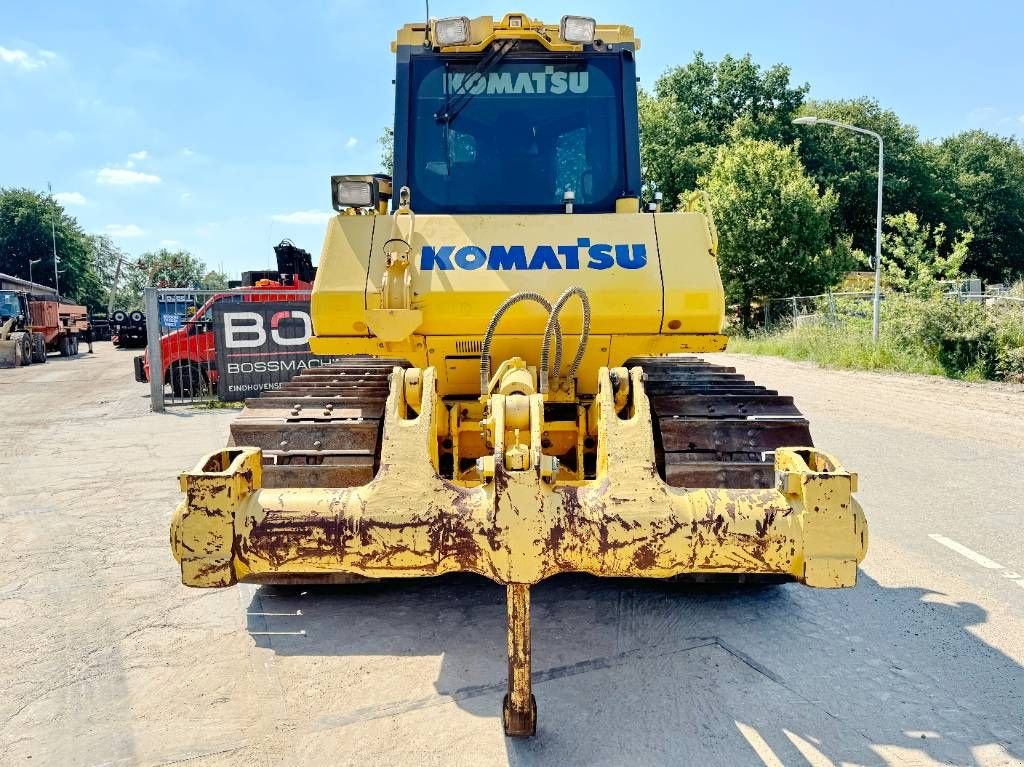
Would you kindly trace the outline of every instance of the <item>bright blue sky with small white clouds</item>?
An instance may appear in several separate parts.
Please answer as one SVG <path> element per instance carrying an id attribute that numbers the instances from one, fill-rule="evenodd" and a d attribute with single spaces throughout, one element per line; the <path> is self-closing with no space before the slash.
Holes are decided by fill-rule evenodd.
<path id="1" fill-rule="evenodd" d="M 926 137 L 1024 136 L 1024 4 L 433 0 L 431 14 L 632 24 L 641 83 L 701 49 L 871 96 Z M 385 12 L 386 11 L 386 12 Z M 332 173 L 379 169 L 388 45 L 422 2 L 0 3 L 0 185 L 47 181 L 130 253 L 182 247 L 230 273 L 284 237 L 318 258 Z"/>

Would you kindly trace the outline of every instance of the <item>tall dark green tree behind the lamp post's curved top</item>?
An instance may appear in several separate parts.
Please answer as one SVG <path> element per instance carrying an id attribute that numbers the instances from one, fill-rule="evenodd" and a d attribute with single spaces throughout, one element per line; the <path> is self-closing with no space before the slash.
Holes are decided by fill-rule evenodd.
<path id="1" fill-rule="evenodd" d="M 935 177 L 918 129 L 869 98 L 808 101 L 802 115 L 815 115 L 873 130 L 885 141 L 884 210 L 914 211 L 930 224 L 950 223 L 951 201 Z M 879 183 L 879 143 L 870 136 L 829 125 L 804 127 L 800 159 L 823 188 L 839 195 L 835 225 L 853 239 L 853 247 L 874 252 Z"/>

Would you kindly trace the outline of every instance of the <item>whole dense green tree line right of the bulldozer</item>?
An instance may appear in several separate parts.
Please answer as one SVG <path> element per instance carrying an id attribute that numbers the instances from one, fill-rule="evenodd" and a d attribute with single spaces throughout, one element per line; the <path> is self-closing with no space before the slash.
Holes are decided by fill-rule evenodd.
<path id="1" fill-rule="evenodd" d="M 790 69 L 763 70 L 748 54 L 697 53 L 640 93 L 647 191 L 679 207 L 709 194 L 720 266 L 744 325 L 765 298 L 816 294 L 874 251 L 878 142 L 817 116 L 857 125 L 885 141 L 885 279 L 913 289 L 936 279 L 988 283 L 1024 276 L 1024 146 L 970 130 L 923 140 L 869 98 L 812 100 Z"/>

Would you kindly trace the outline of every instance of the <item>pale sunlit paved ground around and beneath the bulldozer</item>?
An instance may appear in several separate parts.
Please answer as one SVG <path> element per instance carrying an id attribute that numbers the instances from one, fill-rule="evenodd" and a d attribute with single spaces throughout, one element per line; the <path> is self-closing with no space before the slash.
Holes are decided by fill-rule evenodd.
<path id="1" fill-rule="evenodd" d="M 175 474 L 231 411 L 148 412 L 133 352 L 0 371 L 0 764 L 1024 764 L 1024 392 L 716 355 L 859 471 L 855 589 L 180 586 Z M 936 538 L 937 537 L 937 538 Z"/>

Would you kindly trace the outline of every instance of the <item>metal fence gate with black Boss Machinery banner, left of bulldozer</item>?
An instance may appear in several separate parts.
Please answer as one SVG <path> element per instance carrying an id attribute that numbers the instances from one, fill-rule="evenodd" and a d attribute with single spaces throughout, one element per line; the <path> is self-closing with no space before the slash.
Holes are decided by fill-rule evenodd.
<path id="1" fill-rule="evenodd" d="M 308 290 L 146 288 L 144 303 L 135 379 L 158 413 L 280 388 L 311 356 Z"/>

